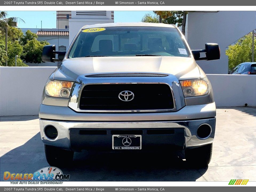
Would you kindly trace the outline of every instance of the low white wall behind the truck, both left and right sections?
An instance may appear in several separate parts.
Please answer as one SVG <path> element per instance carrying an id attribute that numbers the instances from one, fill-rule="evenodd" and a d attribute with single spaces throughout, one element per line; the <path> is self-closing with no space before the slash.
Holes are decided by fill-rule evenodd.
<path id="1" fill-rule="evenodd" d="M 56 67 L 0 67 L 0 116 L 37 115 Z M 256 106 L 256 75 L 208 74 L 216 106 Z"/>

